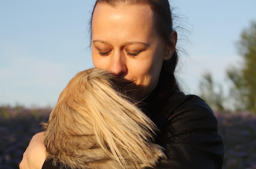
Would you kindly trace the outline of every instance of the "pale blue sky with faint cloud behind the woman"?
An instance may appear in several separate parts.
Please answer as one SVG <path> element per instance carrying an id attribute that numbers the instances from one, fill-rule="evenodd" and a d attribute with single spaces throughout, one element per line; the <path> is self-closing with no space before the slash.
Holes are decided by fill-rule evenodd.
<path id="1" fill-rule="evenodd" d="M 92 68 L 88 22 L 94 0 L 0 1 L 0 105 L 54 106 L 67 82 Z M 184 92 L 205 72 L 227 86 L 240 63 L 235 43 L 256 20 L 255 0 L 171 0 L 177 16 Z M 187 30 L 187 31 L 185 31 Z"/>

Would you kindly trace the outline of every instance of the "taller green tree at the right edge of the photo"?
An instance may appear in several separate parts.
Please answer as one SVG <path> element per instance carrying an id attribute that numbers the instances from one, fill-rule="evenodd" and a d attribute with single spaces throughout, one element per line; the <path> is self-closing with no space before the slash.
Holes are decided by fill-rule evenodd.
<path id="1" fill-rule="evenodd" d="M 230 96 L 234 98 L 236 110 L 256 113 L 256 22 L 251 22 L 242 32 L 237 48 L 243 63 L 239 68 L 227 69 L 232 82 Z"/>

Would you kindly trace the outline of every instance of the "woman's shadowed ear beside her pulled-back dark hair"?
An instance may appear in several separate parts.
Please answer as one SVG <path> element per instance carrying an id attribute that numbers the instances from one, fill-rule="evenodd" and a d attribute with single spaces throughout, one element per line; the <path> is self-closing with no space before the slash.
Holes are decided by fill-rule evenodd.
<path id="1" fill-rule="evenodd" d="M 169 44 L 167 45 L 166 48 L 166 54 L 164 55 L 164 60 L 169 60 L 171 59 L 175 49 L 176 49 L 176 43 L 177 43 L 177 32 L 172 31 L 172 33 L 169 36 Z"/>

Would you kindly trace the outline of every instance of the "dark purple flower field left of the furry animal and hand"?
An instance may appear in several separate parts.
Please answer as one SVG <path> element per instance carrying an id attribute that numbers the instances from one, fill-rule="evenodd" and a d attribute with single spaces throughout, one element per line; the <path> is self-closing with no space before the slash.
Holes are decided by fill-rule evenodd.
<path id="1" fill-rule="evenodd" d="M 0 169 L 18 169 L 32 136 L 40 132 L 51 109 L 0 107 Z"/>

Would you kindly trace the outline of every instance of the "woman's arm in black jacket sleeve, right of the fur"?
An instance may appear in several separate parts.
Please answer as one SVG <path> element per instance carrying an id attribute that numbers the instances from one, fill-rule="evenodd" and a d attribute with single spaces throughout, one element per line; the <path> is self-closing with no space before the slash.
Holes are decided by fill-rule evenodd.
<path id="1" fill-rule="evenodd" d="M 224 155 L 218 122 L 211 108 L 191 97 L 160 128 L 159 144 L 174 169 L 221 169 Z"/>

